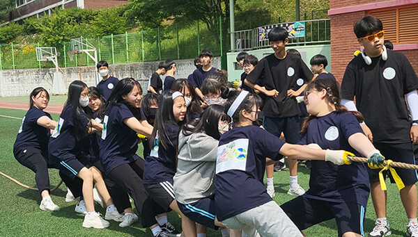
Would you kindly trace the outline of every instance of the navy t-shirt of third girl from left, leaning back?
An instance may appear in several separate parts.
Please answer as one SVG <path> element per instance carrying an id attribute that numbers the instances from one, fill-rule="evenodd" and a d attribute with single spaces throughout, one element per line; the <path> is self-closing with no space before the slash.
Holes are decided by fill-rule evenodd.
<path id="1" fill-rule="evenodd" d="M 146 120 L 141 108 L 137 108 L 141 117 L 138 120 Z M 112 106 L 103 118 L 103 131 L 99 142 L 100 161 L 104 172 L 109 174 L 119 165 L 131 163 L 139 156 L 135 154 L 138 149 L 137 132 L 130 129 L 123 120 L 135 117 L 125 104 Z"/>

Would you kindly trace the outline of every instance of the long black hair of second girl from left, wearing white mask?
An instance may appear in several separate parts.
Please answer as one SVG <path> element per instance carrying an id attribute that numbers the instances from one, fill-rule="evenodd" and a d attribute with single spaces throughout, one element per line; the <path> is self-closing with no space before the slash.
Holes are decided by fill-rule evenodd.
<path id="1" fill-rule="evenodd" d="M 83 126 L 82 120 L 80 120 L 82 114 L 86 115 L 86 113 L 79 102 L 80 95 L 85 88 L 87 88 L 86 83 L 82 81 L 73 81 L 70 86 L 68 86 L 68 98 L 67 101 L 65 101 L 63 108 L 72 107 L 75 112 L 72 116 L 74 119 L 75 138 L 77 141 L 86 135 L 87 132 L 87 127 Z"/>

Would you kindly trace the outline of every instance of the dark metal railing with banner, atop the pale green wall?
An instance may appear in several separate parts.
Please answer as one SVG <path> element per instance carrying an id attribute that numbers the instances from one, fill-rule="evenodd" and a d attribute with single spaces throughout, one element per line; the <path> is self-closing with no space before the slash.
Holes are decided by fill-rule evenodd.
<path id="1" fill-rule="evenodd" d="M 312 19 L 300 22 L 304 23 L 304 36 L 297 38 L 289 38 L 288 45 L 330 43 L 330 19 Z M 244 31 L 234 31 L 231 32 L 231 36 L 233 36 L 235 42 L 234 45 L 231 45 L 231 51 L 248 51 L 253 49 L 263 49 L 270 47 L 269 40 L 258 39 L 258 27 Z"/>

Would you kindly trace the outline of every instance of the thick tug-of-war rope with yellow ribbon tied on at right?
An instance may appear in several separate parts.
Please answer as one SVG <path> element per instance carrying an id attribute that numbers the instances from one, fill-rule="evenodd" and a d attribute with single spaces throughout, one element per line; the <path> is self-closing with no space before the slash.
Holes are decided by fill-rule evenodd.
<path id="1" fill-rule="evenodd" d="M 357 157 L 357 156 L 348 156 L 350 161 L 356 161 L 356 162 L 362 162 L 367 163 L 368 159 L 363 157 Z M 386 160 L 382 163 L 382 170 L 379 172 L 379 180 L 380 180 L 380 187 L 382 190 L 386 190 L 386 183 L 385 179 L 383 178 L 383 171 L 389 170 L 389 172 L 392 174 L 392 177 L 394 177 L 396 186 L 398 186 L 398 189 L 401 190 L 402 188 L 405 188 L 405 185 L 403 184 L 403 181 L 401 177 L 396 173 L 396 170 L 394 167 L 408 169 L 408 170 L 418 170 L 418 165 L 412 165 L 407 163 L 401 163 L 401 162 L 394 162 L 392 160 Z"/>

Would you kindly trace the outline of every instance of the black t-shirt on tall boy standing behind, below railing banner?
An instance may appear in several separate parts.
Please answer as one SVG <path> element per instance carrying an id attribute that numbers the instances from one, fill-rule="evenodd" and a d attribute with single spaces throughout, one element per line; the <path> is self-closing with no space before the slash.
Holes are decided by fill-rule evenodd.
<path id="1" fill-rule="evenodd" d="M 302 58 L 294 54 L 287 54 L 286 58 L 279 59 L 270 54 L 261 59 L 252 70 L 246 80 L 256 84 L 263 77 L 263 85 L 267 90 L 277 90 L 277 97 L 267 97 L 263 108 L 267 117 L 291 117 L 300 114 L 295 97 L 288 97 L 287 91 L 294 89 L 297 79 L 303 79 L 304 83 L 311 81 L 312 74 Z"/>

